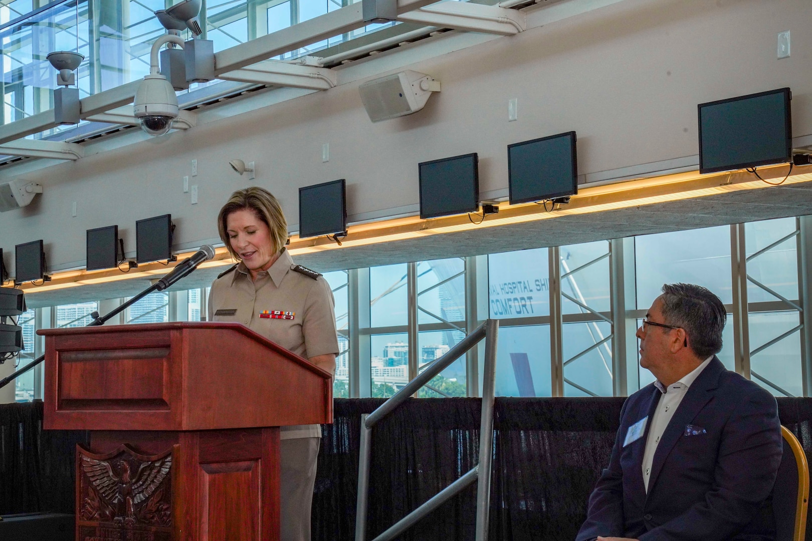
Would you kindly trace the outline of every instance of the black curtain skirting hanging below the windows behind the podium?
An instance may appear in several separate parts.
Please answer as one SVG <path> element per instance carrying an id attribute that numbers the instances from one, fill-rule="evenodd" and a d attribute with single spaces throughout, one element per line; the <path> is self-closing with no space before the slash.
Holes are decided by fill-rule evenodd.
<path id="1" fill-rule="evenodd" d="M 781 423 L 812 463 L 812 398 L 778 398 Z M 313 541 L 355 538 L 361 414 L 383 399 L 336 399 L 322 427 Z M 609 462 L 624 398 L 497 398 L 490 539 L 572 541 Z M 477 398 L 418 398 L 373 430 L 367 539 L 416 509 L 477 462 Z M 72 513 L 76 443 L 86 432 L 43 431 L 42 403 L 0 405 L 0 516 Z M 476 485 L 401 536 L 473 539 Z M 812 517 L 812 514 L 810 514 Z M 807 539 L 812 539 L 812 519 Z"/>

